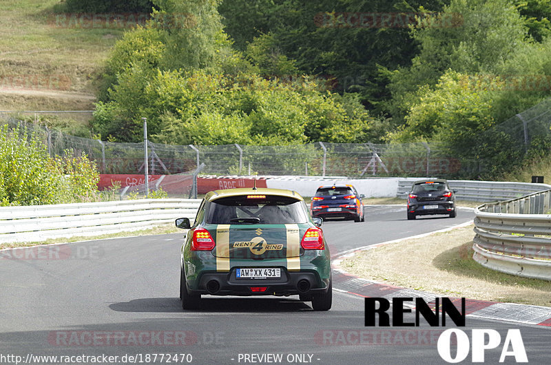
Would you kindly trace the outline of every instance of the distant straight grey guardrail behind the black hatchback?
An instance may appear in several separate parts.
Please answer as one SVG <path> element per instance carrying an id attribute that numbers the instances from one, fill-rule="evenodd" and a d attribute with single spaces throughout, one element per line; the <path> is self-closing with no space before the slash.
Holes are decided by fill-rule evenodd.
<path id="1" fill-rule="evenodd" d="M 419 179 L 421 180 L 421 179 Z M 398 198 L 406 198 L 414 180 L 400 180 Z M 450 188 L 457 191 L 455 196 L 461 200 L 475 202 L 495 202 L 519 198 L 526 194 L 551 189 L 551 185 L 532 183 L 498 183 L 495 181 L 448 180 Z"/>

